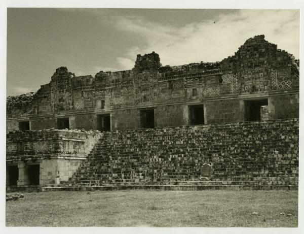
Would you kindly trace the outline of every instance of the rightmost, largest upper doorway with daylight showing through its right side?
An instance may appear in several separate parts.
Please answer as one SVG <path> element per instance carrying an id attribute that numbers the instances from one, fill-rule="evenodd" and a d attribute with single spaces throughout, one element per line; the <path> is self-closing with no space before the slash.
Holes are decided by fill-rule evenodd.
<path id="1" fill-rule="evenodd" d="M 268 110 L 268 99 L 245 101 L 246 121 L 261 121 L 265 110 Z"/>

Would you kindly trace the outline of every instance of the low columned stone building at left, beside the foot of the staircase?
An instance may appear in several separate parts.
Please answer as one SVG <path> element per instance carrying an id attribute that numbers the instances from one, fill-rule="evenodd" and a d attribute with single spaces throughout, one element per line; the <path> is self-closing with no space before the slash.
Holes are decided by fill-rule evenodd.
<path id="1" fill-rule="evenodd" d="M 101 135 L 55 129 L 7 133 L 7 190 L 30 190 L 67 180 Z"/>

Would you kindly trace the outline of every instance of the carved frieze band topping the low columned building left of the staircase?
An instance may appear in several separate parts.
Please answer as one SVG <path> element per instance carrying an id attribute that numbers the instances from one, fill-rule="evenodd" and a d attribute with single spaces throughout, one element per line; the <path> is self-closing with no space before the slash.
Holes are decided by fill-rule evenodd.
<path id="1" fill-rule="evenodd" d="M 7 133 L 7 162 L 43 158 L 86 158 L 98 131 L 28 130 Z"/>

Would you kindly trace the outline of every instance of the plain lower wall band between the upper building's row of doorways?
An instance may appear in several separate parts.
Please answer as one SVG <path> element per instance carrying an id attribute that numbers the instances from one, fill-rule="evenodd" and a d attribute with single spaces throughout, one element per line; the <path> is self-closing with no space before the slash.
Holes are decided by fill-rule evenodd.
<path id="1" fill-rule="evenodd" d="M 244 102 L 251 100 L 244 98 L 221 99 L 196 103 L 204 106 L 205 123 L 227 123 L 245 121 Z M 299 94 L 291 93 L 284 95 L 252 95 L 254 99 L 268 99 L 268 119 L 297 118 L 299 116 Z M 178 126 L 189 124 L 189 110 L 187 104 L 161 105 L 153 108 L 155 111 L 155 126 Z M 97 115 L 110 114 L 111 130 L 125 130 L 140 128 L 140 109 L 117 109 L 111 112 L 84 113 L 68 115 L 70 129 L 98 129 Z M 49 129 L 57 128 L 57 118 L 47 117 L 30 119 L 30 128 Z M 23 119 L 22 121 L 25 121 Z M 28 119 L 27 119 L 28 120 Z M 7 131 L 19 129 L 18 121 L 7 121 Z"/>

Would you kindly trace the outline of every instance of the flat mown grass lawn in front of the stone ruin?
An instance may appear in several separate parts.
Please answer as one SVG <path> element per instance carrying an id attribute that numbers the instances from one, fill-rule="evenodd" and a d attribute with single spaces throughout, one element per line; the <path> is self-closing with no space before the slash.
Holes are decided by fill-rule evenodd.
<path id="1" fill-rule="evenodd" d="M 126 190 L 23 194 L 24 198 L 6 203 L 7 226 L 298 225 L 298 191 Z M 281 212 L 285 215 L 280 215 Z"/>

